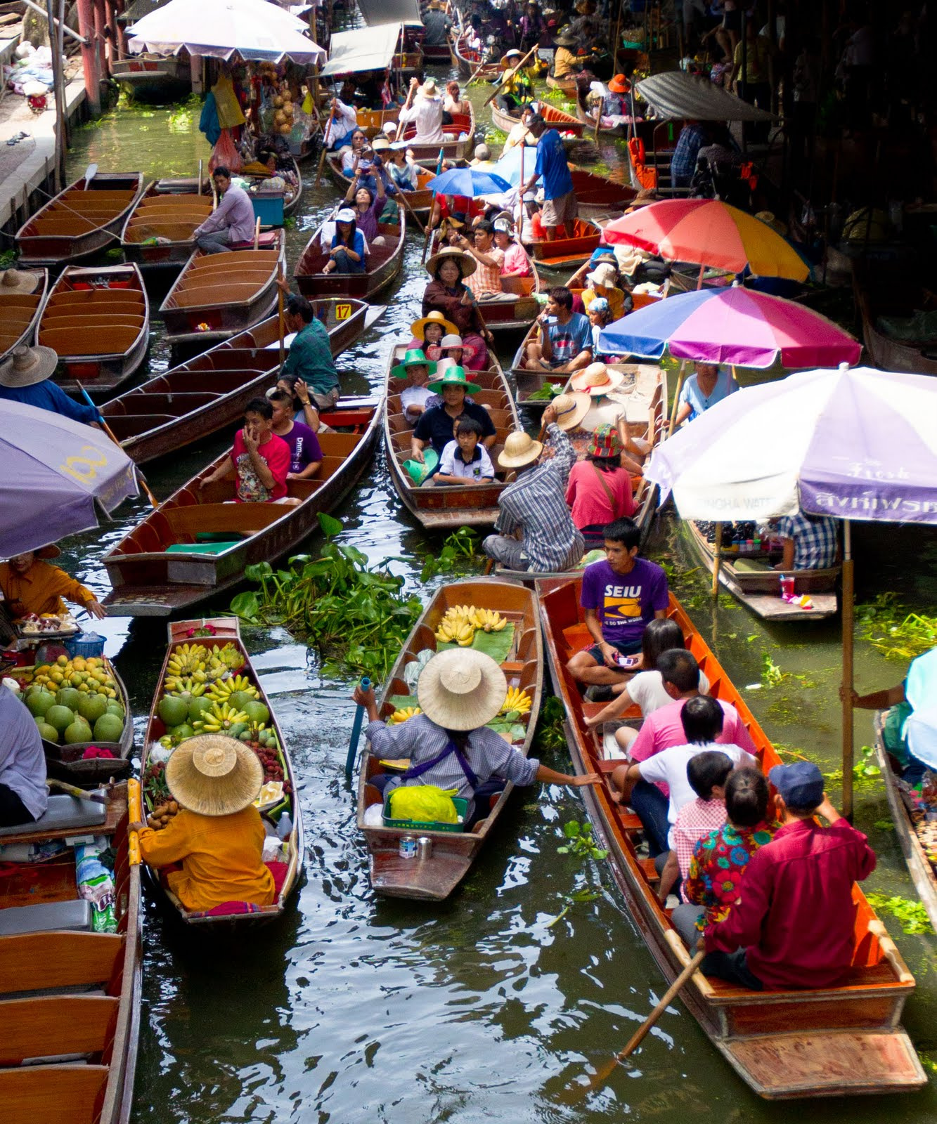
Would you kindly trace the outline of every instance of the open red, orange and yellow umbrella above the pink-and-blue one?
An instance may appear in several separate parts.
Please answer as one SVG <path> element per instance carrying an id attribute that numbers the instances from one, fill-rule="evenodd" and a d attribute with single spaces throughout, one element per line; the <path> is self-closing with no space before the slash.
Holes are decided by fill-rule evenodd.
<path id="1" fill-rule="evenodd" d="M 624 242 L 672 262 L 805 281 L 810 269 L 766 223 L 720 199 L 664 199 L 609 223 L 605 242 Z"/>

